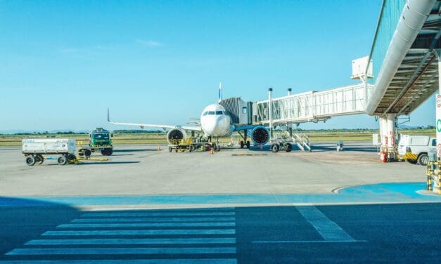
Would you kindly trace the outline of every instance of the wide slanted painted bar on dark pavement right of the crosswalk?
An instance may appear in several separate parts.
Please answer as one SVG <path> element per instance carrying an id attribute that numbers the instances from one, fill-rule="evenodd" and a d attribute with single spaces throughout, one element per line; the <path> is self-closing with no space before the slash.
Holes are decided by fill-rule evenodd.
<path id="1" fill-rule="evenodd" d="M 330 242 L 356 241 L 343 228 L 327 218 L 315 206 L 295 206 L 302 216 L 319 232 L 324 240 Z"/>

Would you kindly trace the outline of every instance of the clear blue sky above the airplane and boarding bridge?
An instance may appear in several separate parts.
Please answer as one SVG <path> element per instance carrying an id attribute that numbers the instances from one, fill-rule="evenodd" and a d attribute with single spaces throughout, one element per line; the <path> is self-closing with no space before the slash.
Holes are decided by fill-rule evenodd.
<path id="1" fill-rule="evenodd" d="M 381 0 L 0 0 L 0 131 L 185 124 L 224 98 L 352 84 Z M 375 62 L 374 62 L 375 63 Z M 409 125 L 435 122 L 434 100 Z M 378 128 L 338 117 L 301 128 Z"/>

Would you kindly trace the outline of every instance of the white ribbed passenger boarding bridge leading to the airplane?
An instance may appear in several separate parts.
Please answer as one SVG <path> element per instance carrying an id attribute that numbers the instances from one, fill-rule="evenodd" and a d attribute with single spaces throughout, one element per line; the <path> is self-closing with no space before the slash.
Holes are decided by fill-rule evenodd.
<path id="1" fill-rule="evenodd" d="M 271 98 L 272 123 L 300 124 L 309 121 L 326 121 L 340 115 L 364 114 L 366 95 L 370 93 L 372 87 L 368 85 L 366 90 L 364 84 L 354 84 L 325 91 Z M 269 100 L 253 104 L 253 124 L 269 124 Z"/>

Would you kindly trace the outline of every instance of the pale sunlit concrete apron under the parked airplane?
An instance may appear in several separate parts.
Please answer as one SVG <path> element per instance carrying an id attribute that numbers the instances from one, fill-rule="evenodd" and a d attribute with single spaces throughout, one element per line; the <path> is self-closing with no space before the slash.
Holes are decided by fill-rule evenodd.
<path id="1" fill-rule="evenodd" d="M 20 147 L 0 147 L 0 193 L 11 197 L 171 194 L 330 194 L 376 183 L 423 183 L 425 167 L 379 161 L 369 143 L 314 144 L 312 152 L 226 148 L 168 152 L 167 146 L 117 145 L 109 161 L 27 166 Z M 94 157 L 101 157 L 95 154 Z"/>

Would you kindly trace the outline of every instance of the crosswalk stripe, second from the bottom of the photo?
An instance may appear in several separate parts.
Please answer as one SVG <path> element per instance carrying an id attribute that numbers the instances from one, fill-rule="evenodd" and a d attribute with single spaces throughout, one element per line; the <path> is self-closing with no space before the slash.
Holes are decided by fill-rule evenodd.
<path id="1" fill-rule="evenodd" d="M 127 255 L 127 254 L 217 254 L 236 253 L 236 247 L 161 247 L 161 248 L 42 248 L 42 249 L 13 249 L 6 253 L 8 256 L 17 255 Z"/>

